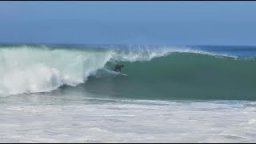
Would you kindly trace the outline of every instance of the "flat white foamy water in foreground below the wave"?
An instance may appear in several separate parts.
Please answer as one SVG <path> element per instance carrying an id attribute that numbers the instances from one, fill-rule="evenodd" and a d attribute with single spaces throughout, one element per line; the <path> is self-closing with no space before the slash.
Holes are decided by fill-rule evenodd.
<path id="1" fill-rule="evenodd" d="M 1 142 L 254 142 L 250 102 L 0 105 Z"/>

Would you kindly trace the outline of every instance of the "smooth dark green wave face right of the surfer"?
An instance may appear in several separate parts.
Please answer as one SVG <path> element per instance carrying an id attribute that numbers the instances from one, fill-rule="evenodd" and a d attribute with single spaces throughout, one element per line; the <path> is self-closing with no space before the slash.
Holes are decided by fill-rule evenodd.
<path id="1" fill-rule="evenodd" d="M 127 77 L 89 77 L 86 91 L 138 99 L 256 100 L 255 59 L 173 53 L 119 63 Z"/>

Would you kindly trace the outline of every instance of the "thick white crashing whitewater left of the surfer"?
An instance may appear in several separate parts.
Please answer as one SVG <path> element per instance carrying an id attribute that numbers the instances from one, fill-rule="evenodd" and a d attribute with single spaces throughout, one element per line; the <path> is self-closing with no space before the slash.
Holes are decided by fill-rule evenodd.
<path id="1" fill-rule="evenodd" d="M 61 85 L 76 86 L 104 67 L 110 53 L 65 49 L 0 49 L 0 94 L 45 92 Z"/>

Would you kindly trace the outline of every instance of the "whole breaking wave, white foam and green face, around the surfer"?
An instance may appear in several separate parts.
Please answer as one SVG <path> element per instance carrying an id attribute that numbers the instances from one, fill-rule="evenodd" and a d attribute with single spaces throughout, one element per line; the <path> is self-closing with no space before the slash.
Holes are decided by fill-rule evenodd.
<path id="1" fill-rule="evenodd" d="M 111 71 L 116 63 L 128 76 Z M 1 96 L 82 89 L 139 99 L 256 99 L 254 58 L 187 47 L 1 46 L 0 66 Z"/>

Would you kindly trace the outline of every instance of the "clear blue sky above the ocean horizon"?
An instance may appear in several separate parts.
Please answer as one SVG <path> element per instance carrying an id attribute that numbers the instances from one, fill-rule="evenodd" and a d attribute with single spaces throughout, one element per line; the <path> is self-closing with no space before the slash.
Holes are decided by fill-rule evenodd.
<path id="1" fill-rule="evenodd" d="M 0 43 L 256 45 L 256 2 L 0 2 Z"/>

